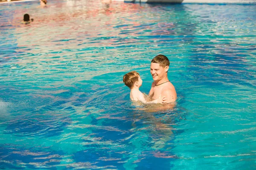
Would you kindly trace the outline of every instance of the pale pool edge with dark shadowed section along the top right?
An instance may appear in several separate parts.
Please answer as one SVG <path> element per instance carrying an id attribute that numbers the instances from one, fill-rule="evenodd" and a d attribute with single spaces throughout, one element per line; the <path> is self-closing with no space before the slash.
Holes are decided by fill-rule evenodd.
<path id="1" fill-rule="evenodd" d="M 256 3 L 256 0 L 114 0 L 126 3 Z"/>

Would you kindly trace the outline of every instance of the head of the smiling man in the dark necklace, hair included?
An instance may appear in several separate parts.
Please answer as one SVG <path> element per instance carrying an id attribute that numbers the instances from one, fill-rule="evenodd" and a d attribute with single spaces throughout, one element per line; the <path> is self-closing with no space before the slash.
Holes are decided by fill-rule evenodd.
<path id="1" fill-rule="evenodd" d="M 164 55 L 158 55 L 151 60 L 150 73 L 154 81 L 160 81 L 164 77 L 167 77 L 167 71 L 169 70 L 169 59 Z"/>

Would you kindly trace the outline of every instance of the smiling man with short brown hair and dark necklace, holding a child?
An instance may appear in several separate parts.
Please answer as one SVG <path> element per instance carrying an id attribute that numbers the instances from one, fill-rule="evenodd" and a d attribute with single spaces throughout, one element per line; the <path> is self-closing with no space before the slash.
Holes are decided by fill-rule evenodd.
<path id="1" fill-rule="evenodd" d="M 164 55 L 158 55 L 151 60 L 150 73 L 154 82 L 149 91 L 151 99 L 157 99 L 159 96 L 165 96 L 166 102 L 175 102 L 177 94 L 175 87 L 169 81 L 167 72 L 169 70 L 169 59 Z"/>

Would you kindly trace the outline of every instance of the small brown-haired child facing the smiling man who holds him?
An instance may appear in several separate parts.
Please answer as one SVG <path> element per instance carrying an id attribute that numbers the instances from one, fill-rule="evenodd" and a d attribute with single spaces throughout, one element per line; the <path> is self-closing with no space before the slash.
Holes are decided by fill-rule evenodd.
<path id="1" fill-rule="evenodd" d="M 128 88 L 131 89 L 130 99 L 131 101 L 140 101 L 143 103 L 165 103 L 165 96 L 161 97 L 161 95 L 152 100 L 151 102 L 147 102 L 143 93 L 140 92 L 139 88 L 142 85 L 142 79 L 140 78 L 140 74 L 136 71 L 131 71 L 124 75 L 123 82 Z"/>

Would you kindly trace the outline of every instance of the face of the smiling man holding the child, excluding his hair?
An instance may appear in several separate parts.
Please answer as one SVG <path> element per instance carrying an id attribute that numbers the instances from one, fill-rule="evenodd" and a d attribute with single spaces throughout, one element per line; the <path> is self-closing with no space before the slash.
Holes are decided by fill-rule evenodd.
<path id="1" fill-rule="evenodd" d="M 150 73 L 153 77 L 154 81 L 159 81 L 163 79 L 166 75 L 166 71 L 168 71 L 169 66 L 166 66 L 165 68 L 161 67 L 157 63 L 151 63 L 150 65 Z"/>

